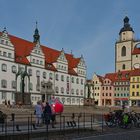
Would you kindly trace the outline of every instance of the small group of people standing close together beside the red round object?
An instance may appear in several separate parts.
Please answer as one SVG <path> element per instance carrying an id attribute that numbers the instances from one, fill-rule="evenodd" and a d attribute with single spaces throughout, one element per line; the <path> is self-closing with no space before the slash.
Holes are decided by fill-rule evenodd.
<path id="1" fill-rule="evenodd" d="M 56 113 L 53 104 L 38 101 L 35 105 L 34 115 L 36 116 L 36 126 L 41 126 L 43 123 L 49 125 L 51 122 L 52 128 L 55 128 Z"/>

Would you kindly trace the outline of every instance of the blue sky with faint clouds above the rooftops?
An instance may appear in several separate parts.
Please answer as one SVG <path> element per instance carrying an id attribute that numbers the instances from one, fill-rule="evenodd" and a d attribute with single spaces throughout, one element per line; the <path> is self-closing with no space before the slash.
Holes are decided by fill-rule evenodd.
<path id="1" fill-rule="evenodd" d="M 115 69 L 115 41 L 128 16 L 140 39 L 139 0 L 0 0 L 0 31 L 33 40 L 35 22 L 41 44 L 84 56 L 87 78 Z"/>

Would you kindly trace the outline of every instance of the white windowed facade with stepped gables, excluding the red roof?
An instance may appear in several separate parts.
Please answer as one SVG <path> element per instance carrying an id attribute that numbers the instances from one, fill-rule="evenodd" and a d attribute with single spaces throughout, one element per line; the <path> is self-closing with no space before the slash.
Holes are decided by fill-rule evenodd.
<path id="1" fill-rule="evenodd" d="M 45 55 L 39 42 L 26 56 L 29 65 L 17 63 L 15 51 L 14 43 L 10 42 L 10 37 L 4 30 L 0 36 L 0 104 L 5 100 L 10 100 L 11 103 L 15 102 L 15 92 L 21 92 L 21 77 L 19 75 L 16 81 L 16 74 L 19 69 L 25 71 L 27 68 L 30 83 L 28 77 L 25 77 L 24 92 L 31 93 L 33 104 L 42 100 L 44 93 L 41 82 L 50 81 L 53 85 L 55 98 L 59 98 L 65 105 L 83 105 L 86 80 L 86 66 L 83 57 L 79 58 L 79 63 L 73 68 L 76 74 L 70 74 L 69 62 L 63 50 L 60 51 L 56 62 L 50 65 L 56 70 L 46 69 Z"/>

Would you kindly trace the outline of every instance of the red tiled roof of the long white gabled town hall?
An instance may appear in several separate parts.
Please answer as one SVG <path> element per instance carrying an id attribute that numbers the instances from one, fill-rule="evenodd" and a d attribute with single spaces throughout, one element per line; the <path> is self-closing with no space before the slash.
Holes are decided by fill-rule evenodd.
<path id="1" fill-rule="evenodd" d="M 1 35 L 1 32 L 0 32 Z M 13 35 L 9 35 L 10 40 L 12 44 L 15 47 L 15 61 L 17 63 L 22 63 L 22 64 L 30 64 L 28 59 L 26 58 L 27 56 L 30 55 L 32 49 L 36 46 L 35 43 L 18 38 Z M 57 61 L 57 58 L 60 55 L 61 51 L 54 50 L 52 48 L 46 47 L 41 45 L 41 49 L 45 55 L 45 64 L 46 64 L 46 69 L 56 71 L 56 68 L 52 63 Z M 68 72 L 69 74 L 72 75 L 77 75 L 77 73 L 74 71 L 73 68 L 76 68 L 80 58 L 74 58 L 72 54 L 65 54 L 66 59 L 68 60 Z M 51 64 L 51 67 L 48 67 L 47 64 Z"/>

